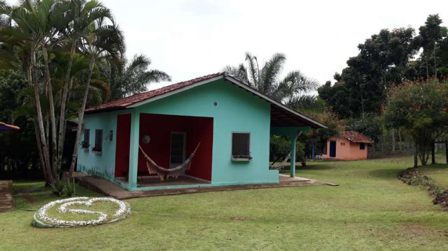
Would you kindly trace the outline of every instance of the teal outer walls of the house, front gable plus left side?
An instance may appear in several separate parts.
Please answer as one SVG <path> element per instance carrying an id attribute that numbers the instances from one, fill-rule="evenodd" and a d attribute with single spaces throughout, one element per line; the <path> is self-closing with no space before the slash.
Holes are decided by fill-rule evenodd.
<path id="1" fill-rule="evenodd" d="M 214 103 L 217 103 L 217 106 Z M 116 116 L 124 113 L 152 113 L 180 116 L 213 117 L 212 184 L 277 183 L 278 171 L 269 170 L 270 103 L 224 82 L 223 79 L 174 94 L 132 110 L 86 115 L 85 127 L 102 128 L 113 140 L 103 141 L 103 154 L 79 151 L 78 170 L 88 173 L 114 173 Z M 231 132 L 250 132 L 250 162 L 232 162 Z M 92 144 L 93 144 L 92 143 Z M 90 171 L 92 172 L 92 171 Z"/>

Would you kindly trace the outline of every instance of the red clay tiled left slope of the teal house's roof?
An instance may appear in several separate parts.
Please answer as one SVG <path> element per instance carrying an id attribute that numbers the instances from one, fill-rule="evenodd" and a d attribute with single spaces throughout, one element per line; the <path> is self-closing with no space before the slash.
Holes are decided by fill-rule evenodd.
<path id="1" fill-rule="evenodd" d="M 86 109 L 86 113 L 94 113 L 94 112 L 100 112 L 100 111 L 112 111 L 112 110 L 120 110 L 120 109 L 125 109 L 126 107 L 133 105 L 135 103 L 138 102 L 142 102 L 145 101 L 147 99 L 168 93 L 168 92 L 172 92 L 174 90 L 178 90 L 181 88 L 184 88 L 186 86 L 204 81 L 204 80 L 208 80 L 214 77 L 218 77 L 220 75 L 223 75 L 224 72 L 217 72 L 217 73 L 213 73 L 213 74 L 209 74 L 209 75 L 205 75 L 202 77 L 197 77 L 194 79 L 190 79 L 187 81 L 182 81 L 176 84 L 172 84 L 172 85 L 168 85 L 159 89 L 155 89 L 155 90 L 151 90 L 151 91 L 147 91 L 147 92 L 142 92 L 142 93 L 137 93 L 134 94 L 132 96 L 129 97 L 125 97 L 122 99 L 118 99 L 115 101 L 111 101 L 108 103 L 104 103 L 102 105 L 96 106 L 96 107 L 92 107 L 89 109 Z"/>

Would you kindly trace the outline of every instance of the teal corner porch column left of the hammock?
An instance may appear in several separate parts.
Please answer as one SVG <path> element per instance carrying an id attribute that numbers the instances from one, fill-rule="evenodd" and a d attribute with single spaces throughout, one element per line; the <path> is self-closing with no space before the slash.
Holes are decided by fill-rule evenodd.
<path id="1" fill-rule="evenodd" d="M 140 138 L 140 113 L 134 110 L 131 115 L 130 147 L 129 147 L 129 180 L 131 189 L 137 188 L 138 143 Z"/>

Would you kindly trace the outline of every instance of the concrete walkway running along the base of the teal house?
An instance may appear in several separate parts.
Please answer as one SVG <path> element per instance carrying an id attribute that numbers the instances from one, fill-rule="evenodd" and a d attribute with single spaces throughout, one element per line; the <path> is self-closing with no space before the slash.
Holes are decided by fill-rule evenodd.
<path id="1" fill-rule="evenodd" d="M 321 182 L 311 179 L 304 179 L 299 177 L 291 178 L 286 175 L 279 175 L 279 183 L 273 184 L 254 184 L 254 185 L 233 185 L 233 186 L 219 186 L 219 187 L 200 187 L 200 188 L 174 188 L 163 190 L 150 190 L 150 191 L 128 191 L 118 185 L 113 184 L 105 179 L 99 177 L 88 176 L 81 172 L 75 172 L 75 179 L 81 183 L 81 185 L 102 193 L 106 196 L 112 196 L 117 199 L 130 199 L 137 197 L 150 197 L 150 196 L 162 196 L 162 195 L 175 195 L 186 193 L 198 193 L 198 192 L 211 192 L 211 191 L 228 191 L 228 190 L 243 190 L 243 189 L 258 189 L 258 188 L 284 188 L 284 187 L 303 187 L 303 186 L 339 186 L 335 183 Z"/>

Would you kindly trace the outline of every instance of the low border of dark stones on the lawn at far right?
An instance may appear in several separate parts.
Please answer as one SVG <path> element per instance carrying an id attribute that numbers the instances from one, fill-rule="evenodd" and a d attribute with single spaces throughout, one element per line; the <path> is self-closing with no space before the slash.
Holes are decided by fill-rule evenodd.
<path id="1" fill-rule="evenodd" d="M 425 188 L 428 194 L 434 197 L 433 203 L 441 205 L 444 210 L 448 211 L 448 190 L 442 191 L 433 179 L 423 175 L 414 167 L 401 171 L 397 178 L 407 185 Z"/>

